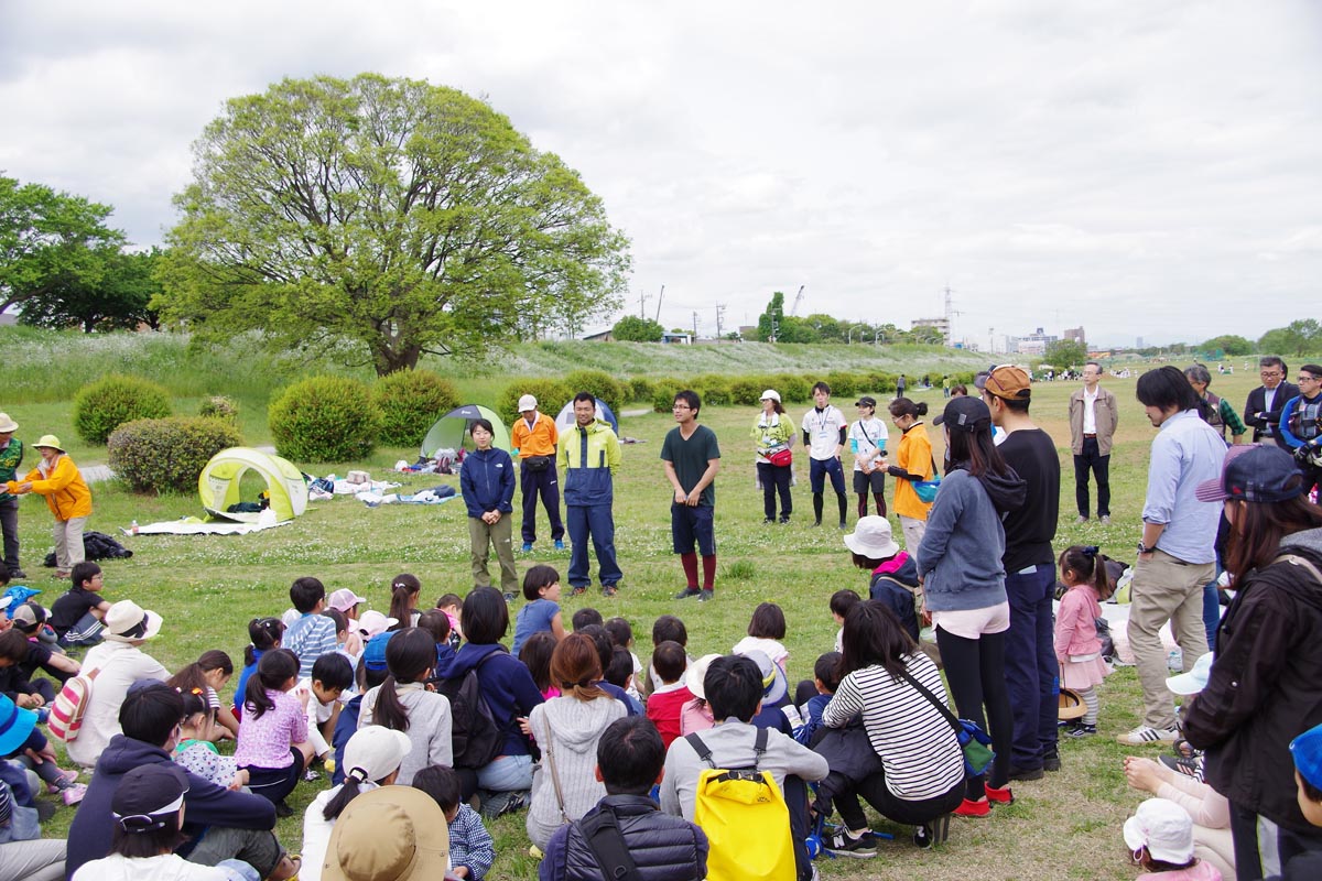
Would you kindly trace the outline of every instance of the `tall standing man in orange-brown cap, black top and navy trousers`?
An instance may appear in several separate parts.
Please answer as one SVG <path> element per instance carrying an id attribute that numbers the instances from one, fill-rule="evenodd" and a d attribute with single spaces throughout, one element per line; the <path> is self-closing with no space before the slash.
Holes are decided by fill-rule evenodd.
<path id="1" fill-rule="evenodd" d="M 1006 432 L 997 448 L 1001 457 L 1027 483 L 1023 507 L 1005 516 L 1001 561 L 1010 601 L 1005 638 L 1005 678 L 1014 708 L 1010 779 L 1035 781 L 1043 770 L 1060 767 L 1055 695 L 1060 664 L 1051 617 L 1056 585 L 1051 543 L 1060 518 L 1060 458 L 1051 436 L 1029 417 L 1032 384 L 1023 370 L 993 370 L 982 387 L 982 400 L 992 411 L 992 421 Z"/>

